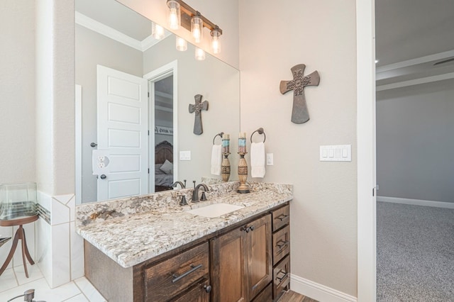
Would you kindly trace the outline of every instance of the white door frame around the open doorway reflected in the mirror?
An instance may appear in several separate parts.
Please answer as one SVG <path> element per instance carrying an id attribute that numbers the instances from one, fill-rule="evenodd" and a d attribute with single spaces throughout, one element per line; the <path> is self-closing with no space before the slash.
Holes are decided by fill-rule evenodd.
<path id="1" fill-rule="evenodd" d="M 168 74 L 173 74 L 173 179 L 177 181 L 178 179 L 178 60 L 174 60 L 160 68 L 153 70 L 152 72 L 148 72 L 148 74 L 144 74 L 143 78 L 150 81 L 157 81 L 162 77 L 167 77 Z M 150 84 L 148 85 L 150 86 Z M 153 89 L 154 90 L 154 89 Z M 154 91 L 153 91 L 154 94 Z M 150 91 L 150 96 L 153 95 L 152 91 Z M 153 106 L 151 106 L 153 105 Z M 155 116 L 155 108 L 154 104 L 150 104 L 150 116 Z M 150 121 L 150 118 L 148 119 Z M 150 128 L 150 125 L 149 127 Z M 152 147 L 154 150 L 155 142 L 154 142 L 154 135 L 153 138 L 150 139 L 150 142 L 153 143 Z M 152 149 L 150 149 L 152 150 Z M 150 152 L 150 172 L 155 171 L 155 152 Z M 150 178 L 150 185 L 153 183 L 153 187 L 150 187 L 150 191 L 155 187 L 155 178 Z"/>

